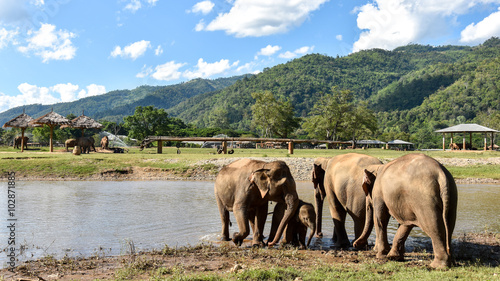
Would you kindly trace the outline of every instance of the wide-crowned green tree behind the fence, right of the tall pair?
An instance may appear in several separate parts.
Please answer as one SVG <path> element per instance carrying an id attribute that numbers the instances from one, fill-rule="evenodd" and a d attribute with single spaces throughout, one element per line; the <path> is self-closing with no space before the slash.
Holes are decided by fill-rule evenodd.
<path id="1" fill-rule="evenodd" d="M 349 90 L 331 88 L 314 104 L 302 127 L 310 138 L 337 140 L 339 132 L 354 108 L 353 95 Z"/>

